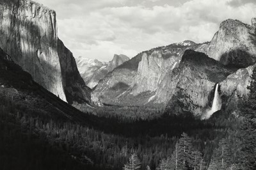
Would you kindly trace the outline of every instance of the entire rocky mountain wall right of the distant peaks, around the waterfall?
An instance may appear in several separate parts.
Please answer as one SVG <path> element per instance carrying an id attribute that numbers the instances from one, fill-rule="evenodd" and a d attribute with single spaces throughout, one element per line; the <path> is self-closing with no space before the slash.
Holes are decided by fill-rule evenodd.
<path id="1" fill-rule="evenodd" d="M 255 38 L 255 19 L 252 25 L 228 19 L 209 43 L 185 41 L 141 52 L 99 82 L 93 101 L 164 104 L 175 112 L 202 114 L 211 107 L 219 83 L 223 107 L 234 111 L 234 104 L 248 94 Z"/>

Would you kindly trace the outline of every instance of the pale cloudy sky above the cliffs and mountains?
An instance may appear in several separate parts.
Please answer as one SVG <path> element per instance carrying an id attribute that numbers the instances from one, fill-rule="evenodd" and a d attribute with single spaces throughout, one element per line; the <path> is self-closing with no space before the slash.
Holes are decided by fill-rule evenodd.
<path id="1" fill-rule="evenodd" d="M 34 0 L 57 13 L 75 57 L 109 61 L 183 40 L 211 40 L 220 22 L 256 17 L 255 0 Z"/>

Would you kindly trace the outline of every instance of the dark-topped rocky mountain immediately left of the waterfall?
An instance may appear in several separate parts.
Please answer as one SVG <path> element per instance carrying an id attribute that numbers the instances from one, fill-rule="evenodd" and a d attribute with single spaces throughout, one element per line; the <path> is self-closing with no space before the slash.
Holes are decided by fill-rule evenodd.
<path id="1" fill-rule="evenodd" d="M 175 114 L 179 114 L 178 110 L 202 114 L 211 102 L 209 94 L 214 84 L 233 72 L 204 53 L 187 50 L 180 65 L 159 84 L 156 101 L 166 103 L 167 108 L 177 111 Z"/>

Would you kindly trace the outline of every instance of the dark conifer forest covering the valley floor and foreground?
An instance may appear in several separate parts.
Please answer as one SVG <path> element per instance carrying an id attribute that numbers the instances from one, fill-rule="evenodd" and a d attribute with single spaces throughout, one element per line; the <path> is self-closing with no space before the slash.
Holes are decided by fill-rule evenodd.
<path id="1" fill-rule="evenodd" d="M 1 169 L 256 169 L 256 70 L 252 79 L 239 115 L 221 110 L 209 120 L 109 106 L 93 127 L 1 96 Z"/>

